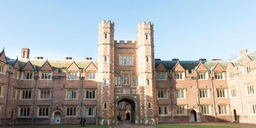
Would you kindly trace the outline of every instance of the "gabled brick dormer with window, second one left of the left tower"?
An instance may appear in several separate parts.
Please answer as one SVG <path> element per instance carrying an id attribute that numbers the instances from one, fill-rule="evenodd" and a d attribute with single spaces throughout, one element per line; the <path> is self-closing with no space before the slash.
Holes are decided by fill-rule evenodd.
<path id="1" fill-rule="evenodd" d="M 80 76 L 80 69 L 75 62 L 71 63 L 68 68 L 66 68 L 66 77 L 69 80 L 78 80 Z"/>

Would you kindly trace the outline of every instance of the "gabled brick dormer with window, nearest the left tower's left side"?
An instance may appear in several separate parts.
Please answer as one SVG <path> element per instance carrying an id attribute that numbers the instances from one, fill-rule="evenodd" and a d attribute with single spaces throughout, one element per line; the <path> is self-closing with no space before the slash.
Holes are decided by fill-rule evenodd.
<path id="1" fill-rule="evenodd" d="M 98 68 L 93 64 L 93 62 L 90 62 L 88 66 L 84 69 L 85 71 L 85 76 L 87 80 L 95 80 L 97 79 L 97 71 Z"/>

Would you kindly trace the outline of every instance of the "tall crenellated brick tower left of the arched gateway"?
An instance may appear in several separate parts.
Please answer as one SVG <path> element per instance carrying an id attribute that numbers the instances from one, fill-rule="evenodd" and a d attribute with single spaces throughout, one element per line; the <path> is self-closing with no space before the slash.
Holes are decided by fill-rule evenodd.
<path id="1" fill-rule="evenodd" d="M 114 22 L 99 22 L 97 124 L 114 124 Z"/>

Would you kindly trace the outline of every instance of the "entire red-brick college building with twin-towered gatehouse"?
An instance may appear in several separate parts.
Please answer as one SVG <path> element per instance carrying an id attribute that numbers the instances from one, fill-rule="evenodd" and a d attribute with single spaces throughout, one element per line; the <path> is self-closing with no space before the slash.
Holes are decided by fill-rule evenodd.
<path id="1" fill-rule="evenodd" d="M 108 125 L 230 122 L 256 124 L 256 50 L 223 61 L 154 58 L 153 24 L 132 41 L 114 40 L 99 22 L 98 60 L 21 59 L 0 53 L 0 125 Z"/>

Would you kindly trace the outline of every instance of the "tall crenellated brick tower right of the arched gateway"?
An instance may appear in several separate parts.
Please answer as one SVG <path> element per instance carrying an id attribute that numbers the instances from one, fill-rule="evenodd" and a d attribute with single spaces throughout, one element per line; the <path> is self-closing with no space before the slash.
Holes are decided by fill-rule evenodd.
<path id="1" fill-rule="evenodd" d="M 156 104 L 155 67 L 154 67 L 154 33 L 151 22 L 142 22 L 138 30 L 138 79 L 141 102 L 140 124 L 156 124 L 157 106 L 147 109 L 148 104 Z M 143 122 L 144 121 L 144 122 Z"/>

